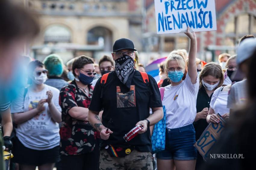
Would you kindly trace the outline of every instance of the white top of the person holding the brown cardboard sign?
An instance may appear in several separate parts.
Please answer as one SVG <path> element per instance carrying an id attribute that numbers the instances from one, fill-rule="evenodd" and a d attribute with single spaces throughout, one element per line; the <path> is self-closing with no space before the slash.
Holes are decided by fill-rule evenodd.
<path id="1" fill-rule="evenodd" d="M 210 106 L 212 109 L 214 109 L 216 115 L 218 113 L 220 115 L 229 113 L 229 109 L 227 108 L 228 91 L 221 91 L 222 89 L 223 87 L 217 88 L 211 97 Z"/>

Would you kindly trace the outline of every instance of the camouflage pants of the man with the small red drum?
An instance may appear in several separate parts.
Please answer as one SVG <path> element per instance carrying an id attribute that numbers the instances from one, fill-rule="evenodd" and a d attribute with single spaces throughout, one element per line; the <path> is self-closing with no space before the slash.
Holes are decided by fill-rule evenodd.
<path id="1" fill-rule="evenodd" d="M 100 151 L 100 170 L 153 170 L 150 152 L 132 151 L 126 157 L 111 157 L 103 149 Z"/>

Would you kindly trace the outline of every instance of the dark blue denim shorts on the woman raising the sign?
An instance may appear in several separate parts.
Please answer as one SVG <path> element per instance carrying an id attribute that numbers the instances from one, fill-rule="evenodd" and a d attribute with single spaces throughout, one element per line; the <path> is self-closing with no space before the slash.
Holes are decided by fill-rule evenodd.
<path id="1" fill-rule="evenodd" d="M 196 160 L 195 129 L 193 124 L 175 128 L 166 128 L 165 150 L 156 154 L 161 160 Z"/>

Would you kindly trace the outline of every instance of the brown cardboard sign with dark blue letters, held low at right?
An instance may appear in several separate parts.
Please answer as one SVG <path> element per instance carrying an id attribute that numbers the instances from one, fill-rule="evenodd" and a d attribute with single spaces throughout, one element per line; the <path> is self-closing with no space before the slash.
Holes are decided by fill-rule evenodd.
<path id="1" fill-rule="evenodd" d="M 220 118 L 220 123 L 210 123 L 194 145 L 204 160 L 206 160 L 208 157 L 209 152 L 211 151 L 215 142 L 219 139 L 220 134 L 224 129 L 225 121 L 221 118 L 219 113 L 217 116 Z"/>

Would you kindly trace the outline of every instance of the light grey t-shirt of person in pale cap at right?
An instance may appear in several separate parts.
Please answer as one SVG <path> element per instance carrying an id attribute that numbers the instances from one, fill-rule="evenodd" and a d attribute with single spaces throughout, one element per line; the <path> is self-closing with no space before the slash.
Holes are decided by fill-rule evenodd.
<path id="1" fill-rule="evenodd" d="M 228 96 L 227 108 L 235 109 L 237 105 L 242 105 L 247 100 L 247 79 L 236 82 L 231 86 Z"/>

